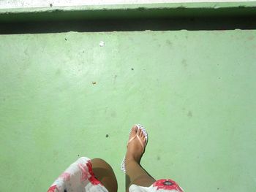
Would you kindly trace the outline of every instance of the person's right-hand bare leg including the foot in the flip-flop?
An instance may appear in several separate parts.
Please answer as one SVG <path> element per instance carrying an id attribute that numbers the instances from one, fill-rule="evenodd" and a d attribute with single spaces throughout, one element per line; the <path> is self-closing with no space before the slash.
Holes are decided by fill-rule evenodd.
<path id="1" fill-rule="evenodd" d="M 129 139 L 135 137 L 136 134 L 140 140 L 137 137 L 127 145 L 127 154 L 125 157 L 126 191 L 129 191 L 129 186 L 132 184 L 149 187 L 156 181 L 140 166 L 140 158 L 144 152 L 140 141 L 145 145 L 146 138 L 140 128 L 138 129 L 137 126 L 133 126 Z"/>

